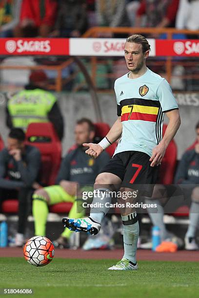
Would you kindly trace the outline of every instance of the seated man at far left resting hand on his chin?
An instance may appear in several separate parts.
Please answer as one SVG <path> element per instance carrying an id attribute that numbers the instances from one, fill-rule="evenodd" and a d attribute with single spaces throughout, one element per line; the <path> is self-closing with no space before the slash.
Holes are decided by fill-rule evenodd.
<path id="1" fill-rule="evenodd" d="M 17 246 L 24 241 L 28 198 L 31 198 L 33 188 L 39 187 L 36 180 L 40 169 L 40 151 L 33 146 L 26 146 L 24 140 L 23 130 L 11 129 L 7 148 L 0 151 L 0 200 L 13 198 L 13 194 L 19 199 Z"/>

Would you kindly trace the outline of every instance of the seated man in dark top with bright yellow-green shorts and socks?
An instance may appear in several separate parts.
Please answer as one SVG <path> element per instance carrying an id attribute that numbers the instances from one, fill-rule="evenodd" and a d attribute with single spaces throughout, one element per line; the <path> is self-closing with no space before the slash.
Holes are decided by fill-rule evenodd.
<path id="1" fill-rule="evenodd" d="M 57 177 L 57 185 L 38 189 L 33 195 L 33 216 L 35 218 L 35 235 L 45 236 L 48 205 L 60 202 L 72 202 L 69 216 L 78 218 L 84 212 L 78 208 L 81 197 L 77 198 L 77 187 L 93 185 L 95 178 L 109 161 L 106 152 L 94 159 L 85 154 L 83 143 L 93 141 L 95 136 L 94 124 L 86 118 L 80 119 L 75 126 L 76 146 L 64 157 Z M 82 187 L 85 190 L 85 187 Z M 78 213 L 78 211 L 79 213 Z M 65 229 L 59 239 L 54 242 L 57 247 L 68 248 L 68 240 L 72 231 Z"/>

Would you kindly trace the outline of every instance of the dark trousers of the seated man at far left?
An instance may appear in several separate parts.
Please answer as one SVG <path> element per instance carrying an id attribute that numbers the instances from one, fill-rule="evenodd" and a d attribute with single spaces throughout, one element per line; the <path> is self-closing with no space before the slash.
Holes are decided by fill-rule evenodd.
<path id="1" fill-rule="evenodd" d="M 0 212 L 2 213 L 2 202 L 8 199 L 19 201 L 18 233 L 24 234 L 27 226 L 28 214 L 32 205 L 32 188 L 22 187 L 19 190 L 0 188 Z"/>

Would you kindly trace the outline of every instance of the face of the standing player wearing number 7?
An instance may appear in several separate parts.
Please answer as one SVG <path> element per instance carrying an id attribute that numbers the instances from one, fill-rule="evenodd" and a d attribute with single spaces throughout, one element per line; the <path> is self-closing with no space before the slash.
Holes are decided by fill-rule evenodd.
<path id="1" fill-rule="evenodd" d="M 134 42 L 125 42 L 124 58 L 128 70 L 132 73 L 138 73 L 145 65 L 145 60 L 149 55 L 149 51 L 142 52 L 142 45 Z"/>

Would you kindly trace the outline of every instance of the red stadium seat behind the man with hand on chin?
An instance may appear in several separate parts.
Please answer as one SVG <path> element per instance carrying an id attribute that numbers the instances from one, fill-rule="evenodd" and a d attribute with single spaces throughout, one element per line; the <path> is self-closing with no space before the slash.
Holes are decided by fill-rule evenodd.
<path id="1" fill-rule="evenodd" d="M 54 185 L 61 163 L 61 143 L 52 123 L 31 123 L 26 132 L 26 144 L 40 150 L 41 182 Z"/>

